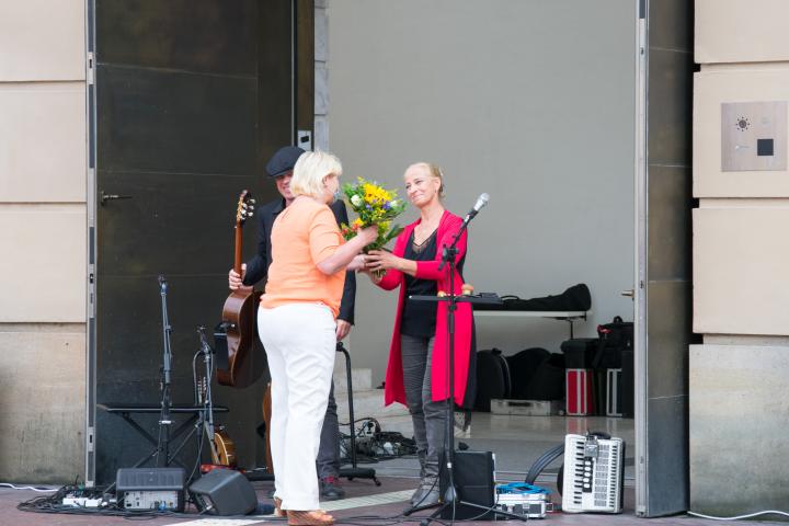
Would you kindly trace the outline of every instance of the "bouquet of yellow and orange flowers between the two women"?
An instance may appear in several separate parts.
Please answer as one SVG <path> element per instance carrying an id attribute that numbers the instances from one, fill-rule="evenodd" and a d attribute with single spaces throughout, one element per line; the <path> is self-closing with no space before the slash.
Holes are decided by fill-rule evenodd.
<path id="1" fill-rule="evenodd" d="M 345 240 L 352 239 L 362 228 L 376 225 L 378 239 L 365 247 L 364 251 L 382 249 L 402 231 L 399 225 L 391 226 L 391 220 L 402 214 L 405 203 L 397 198 L 397 191 L 384 190 L 377 183 L 358 178 L 355 183 L 343 184 L 343 193 L 351 208 L 358 217 L 351 225 L 342 224 L 340 231 Z"/>

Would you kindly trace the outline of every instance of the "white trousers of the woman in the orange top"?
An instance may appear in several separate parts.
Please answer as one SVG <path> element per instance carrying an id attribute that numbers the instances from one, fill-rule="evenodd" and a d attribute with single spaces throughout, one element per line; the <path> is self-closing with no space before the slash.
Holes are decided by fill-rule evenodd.
<path id="1" fill-rule="evenodd" d="M 258 309 L 272 377 L 274 495 L 283 510 L 318 510 L 316 458 L 336 353 L 336 322 L 322 304 Z"/>

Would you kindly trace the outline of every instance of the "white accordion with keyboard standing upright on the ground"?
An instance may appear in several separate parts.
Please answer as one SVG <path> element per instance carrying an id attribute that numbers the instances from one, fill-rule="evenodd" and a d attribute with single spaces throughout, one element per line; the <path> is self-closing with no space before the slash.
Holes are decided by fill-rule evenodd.
<path id="1" fill-rule="evenodd" d="M 562 511 L 621 513 L 625 442 L 597 435 L 564 437 Z"/>

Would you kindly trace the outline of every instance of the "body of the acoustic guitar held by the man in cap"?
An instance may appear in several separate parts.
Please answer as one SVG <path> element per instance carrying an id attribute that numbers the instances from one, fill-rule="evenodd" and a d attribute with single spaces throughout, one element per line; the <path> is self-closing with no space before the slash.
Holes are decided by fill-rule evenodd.
<path id="1" fill-rule="evenodd" d="M 228 323 L 228 367 L 217 369 L 221 386 L 244 388 L 263 374 L 265 356 L 258 340 L 258 306 L 261 291 L 233 290 L 222 308 L 222 321 Z"/>

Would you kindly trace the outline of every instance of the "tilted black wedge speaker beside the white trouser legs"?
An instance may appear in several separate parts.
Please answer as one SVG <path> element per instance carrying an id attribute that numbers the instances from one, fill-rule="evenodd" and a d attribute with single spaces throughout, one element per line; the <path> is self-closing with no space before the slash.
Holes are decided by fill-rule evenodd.
<path id="1" fill-rule="evenodd" d="M 215 469 L 190 485 L 201 513 L 247 515 L 258 507 L 258 495 L 247 478 L 231 469 Z"/>

